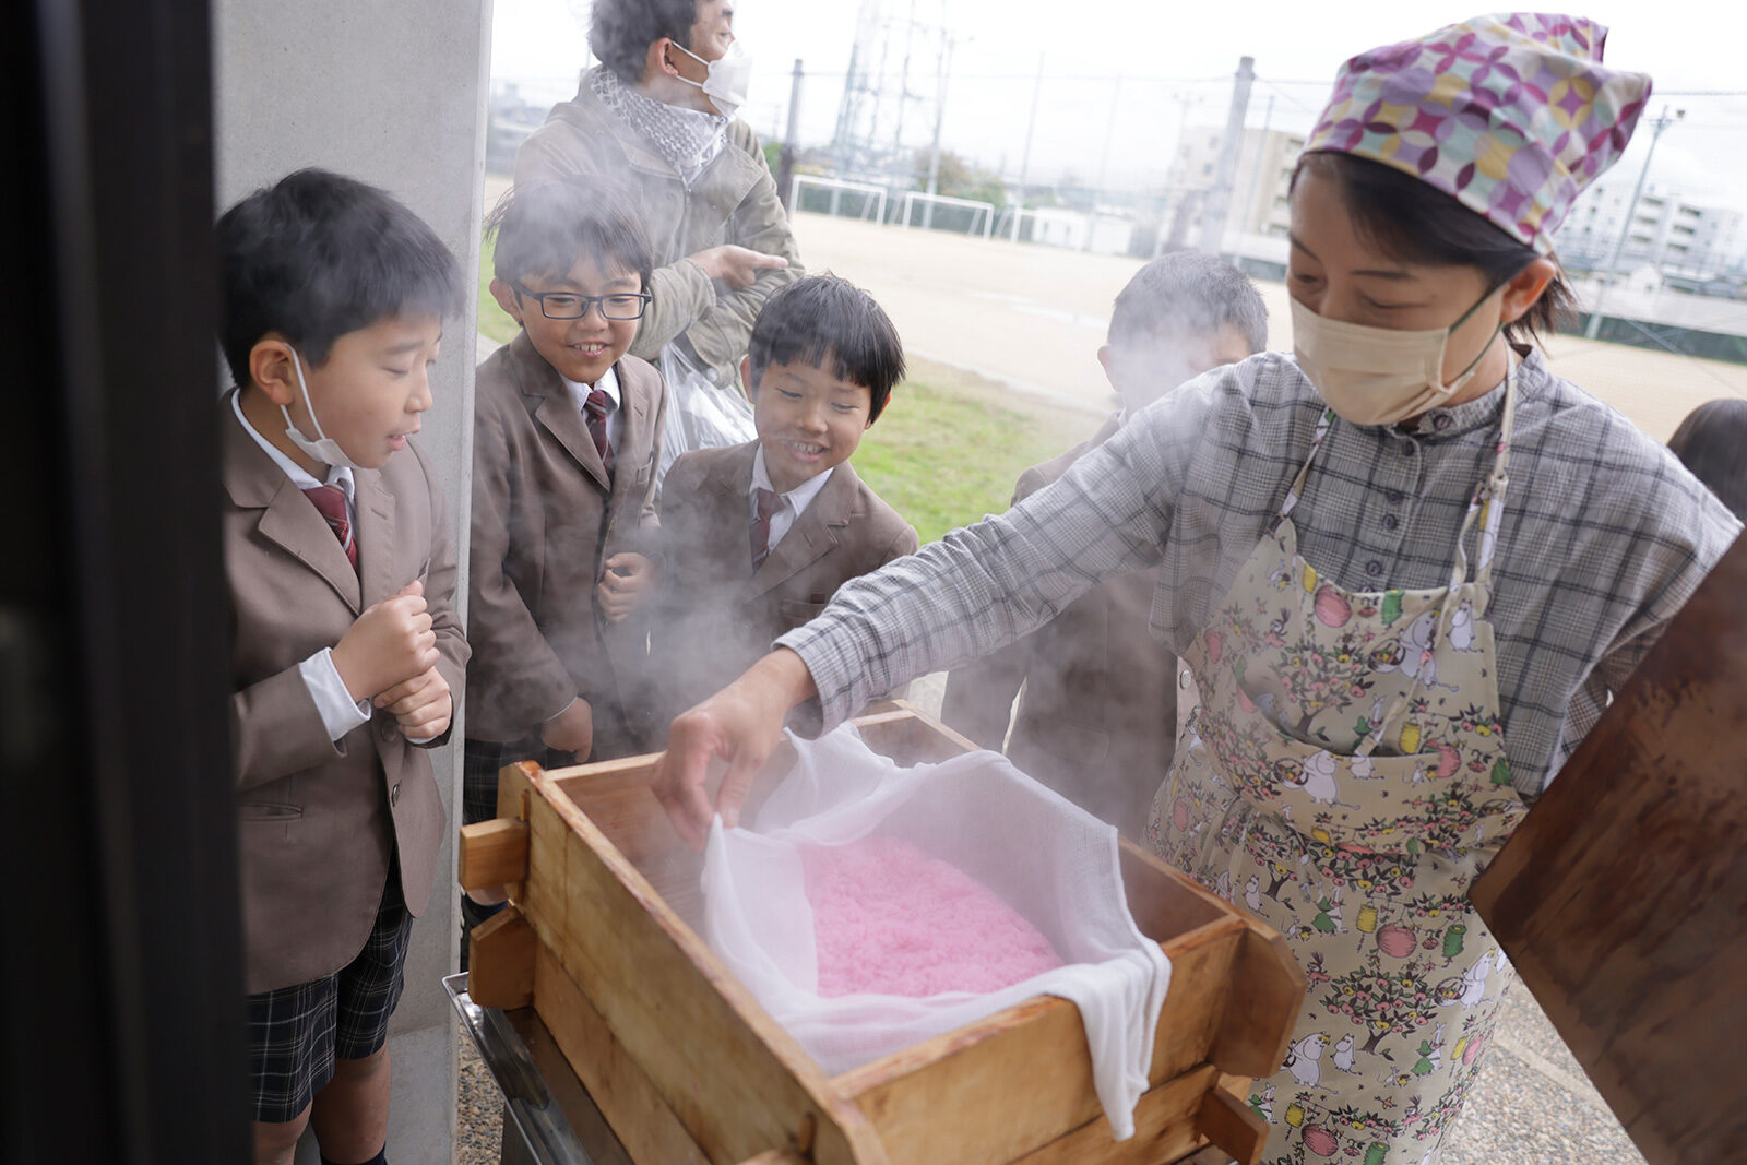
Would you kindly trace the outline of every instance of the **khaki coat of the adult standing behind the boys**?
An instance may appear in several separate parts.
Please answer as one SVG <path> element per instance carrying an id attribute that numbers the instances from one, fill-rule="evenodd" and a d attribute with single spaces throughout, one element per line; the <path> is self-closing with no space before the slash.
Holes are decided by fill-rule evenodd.
<path id="1" fill-rule="evenodd" d="M 758 134 L 742 121 L 730 122 L 727 145 L 687 190 L 667 159 L 601 105 L 583 75 L 575 100 L 554 105 L 515 152 L 517 185 L 577 173 L 629 182 L 655 248 L 648 288 L 655 300 L 631 353 L 657 360 L 667 341 L 683 335 L 716 384 L 735 384 L 763 302 L 802 274 Z M 788 267 L 765 271 L 737 292 L 716 285 L 687 255 L 723 243 L 781 255 Z"/>

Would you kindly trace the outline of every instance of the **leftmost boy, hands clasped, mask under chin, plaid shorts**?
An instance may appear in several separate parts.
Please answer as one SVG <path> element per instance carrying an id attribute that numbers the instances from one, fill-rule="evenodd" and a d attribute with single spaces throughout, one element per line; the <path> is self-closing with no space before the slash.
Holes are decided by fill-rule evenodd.
<path id="1" fill-rule="evenodd" d="M 384 1162 L 388 1017 L 444 810 L 466 643 L 409 438 L 461 272 L 390 196 L 304 169 L 217 227 L 248 1065 L 257 1162 Z M 372 1156 L 374 1155 L 374 1156 Z"/>

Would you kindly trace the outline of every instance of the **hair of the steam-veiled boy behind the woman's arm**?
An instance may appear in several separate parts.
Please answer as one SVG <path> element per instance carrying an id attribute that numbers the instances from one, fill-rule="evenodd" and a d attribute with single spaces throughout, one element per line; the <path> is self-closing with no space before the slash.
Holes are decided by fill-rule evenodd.
<path id="1" fill-rule="evenodd" d="M 1216 255 L 1160 255 L 1134 272 L 1109 313 L 1109 342 L 1218 337 L 1233 328 L 1251 353 L 1268 346 L 1268 307 L 1249 276 Z"/>

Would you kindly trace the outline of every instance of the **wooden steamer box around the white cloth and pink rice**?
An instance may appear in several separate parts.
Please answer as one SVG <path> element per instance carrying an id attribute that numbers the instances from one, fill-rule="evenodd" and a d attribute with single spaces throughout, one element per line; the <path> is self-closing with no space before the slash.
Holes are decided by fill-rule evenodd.
<path id="1" fill-rule="evenodd" d="M 945 760 L 970 741 L 912 707 L 860 718 L 900 763 Z M 1272 1072 L 1303 997 L 1279 934 L 1123 844 L 1123 889 L 1143 933 L 1172 959 L 1141 1135 L 1109 1141 L 1078 1010 L 1038 997 L 826 1078 L 699 938 L 697 856 L 650 793 L 653 756 L 500 776 L 500 824 L 470 844 L 475 877 L 519 873 L 514 910 L 536 936 L 535 1008 L 638 1160 L 722 1165 L 804 1155 L 858 1162 L 1132 1162 L 1160 1165 L 1219 1137 L 1253 1153 L 1223 1081 Z M 767 774 L 793 758 L 776 756 Z M 769 791 L 755 782 L 753 795 Z M 529 961 L 501 943 L 500 978 Z M 1237 1107 L 1233 1107 L 1237 1104 Z M 1205 1127 L 1204 1127 L 1205 1125 Z"/>

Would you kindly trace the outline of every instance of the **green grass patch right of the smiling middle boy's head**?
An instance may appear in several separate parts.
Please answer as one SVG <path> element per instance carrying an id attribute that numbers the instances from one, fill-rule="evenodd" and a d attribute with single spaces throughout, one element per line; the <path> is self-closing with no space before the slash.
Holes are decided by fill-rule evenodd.
<path id="1" fill-rule="evenodd" d="M 1052 409 L 998 383 L 926 360 L 893 389 L 856 449 L 856 473 L 898 510 L 922 543 L 1001 514 L 1019 475 L 1090 437 L 1101 417 Z"/>

